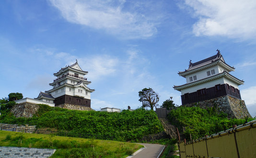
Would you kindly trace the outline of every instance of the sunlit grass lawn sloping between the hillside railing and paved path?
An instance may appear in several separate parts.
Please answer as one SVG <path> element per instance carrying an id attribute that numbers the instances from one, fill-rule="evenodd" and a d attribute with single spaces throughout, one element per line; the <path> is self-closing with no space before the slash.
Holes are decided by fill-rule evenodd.
<path id="1" fill-rule="evenodd" d="M 125 158 L 141 145 L 111 140 L 0 131 L 0 146 L 57 149 L 51 158 Z"/>

